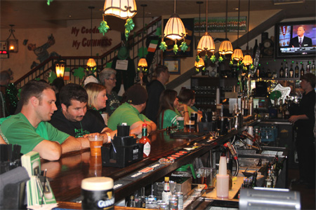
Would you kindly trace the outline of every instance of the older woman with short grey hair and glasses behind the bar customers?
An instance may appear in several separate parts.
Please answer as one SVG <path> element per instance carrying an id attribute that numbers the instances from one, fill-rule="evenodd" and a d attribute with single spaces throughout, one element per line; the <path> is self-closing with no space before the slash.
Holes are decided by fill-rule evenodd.
<path id="1" fill-rule="evenodd" d="M 99 80 L 107 90 L 107 106 L 106 109 L 103 111 L 105 111 L 109 115 L 109 117 L 120 105 L 119 96 L 117 95 L 117 92 L 113 91 L 113 88 L 116 86 L 117 83 L 116 75 L 117 71 L 111 68 L 105 68 L 99 74 Z"/>

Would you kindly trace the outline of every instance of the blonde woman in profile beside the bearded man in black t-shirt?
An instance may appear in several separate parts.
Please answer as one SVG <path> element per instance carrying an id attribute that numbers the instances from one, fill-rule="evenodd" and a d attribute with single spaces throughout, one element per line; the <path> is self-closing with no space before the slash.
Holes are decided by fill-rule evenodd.
<path id="1" fill-rule="evenodd" d="M 98 83 L 88 83 L 84 86 L 84 89 L 88 93 L 88 111 L 93 113 L 102 123 L 105 123 L 100 109 L 107 106 L 107 90 L 103 85 Z"/>

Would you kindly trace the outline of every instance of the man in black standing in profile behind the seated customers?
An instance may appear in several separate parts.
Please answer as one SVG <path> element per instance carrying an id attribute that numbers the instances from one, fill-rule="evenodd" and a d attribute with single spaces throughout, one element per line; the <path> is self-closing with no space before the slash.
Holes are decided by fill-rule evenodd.
<path id="1" fill-rule="evenodd" d="M 166 85 L 168 82 L 170 75 L 167 66 L 163 65 L 158 65 L 154 69 L 154 73 L 156 73 L 157 80 L 152 80 L 146 87 L 148 99 L 145 116 L 157 124 L 159 97 L 160 94 L 162 94 L 162 92 L 166 89 L 164 85 Z"/>

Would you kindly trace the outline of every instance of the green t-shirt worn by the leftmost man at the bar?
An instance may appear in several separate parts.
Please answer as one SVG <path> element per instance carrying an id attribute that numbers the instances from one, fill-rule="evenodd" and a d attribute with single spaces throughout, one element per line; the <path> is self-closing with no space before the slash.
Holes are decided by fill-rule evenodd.
<path id="1" fill-rule="evenodd" d="M 70 137 L 70 135 L 60 132 L 48 122 L 41 122 L 37 128 L 33 127 L 22 113 L 8 118 L 1 118 L 0 124 L 8 142 L 20 145 L 23 154 L 32 151 L 43 140 L 57 141 L 62 144 L 65 139 Z"/>

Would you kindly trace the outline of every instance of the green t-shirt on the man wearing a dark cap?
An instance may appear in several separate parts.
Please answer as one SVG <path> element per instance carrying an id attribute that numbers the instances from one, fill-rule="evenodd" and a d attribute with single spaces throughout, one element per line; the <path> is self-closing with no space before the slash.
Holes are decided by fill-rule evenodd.
<path id="1" fill-rule="evenodd" d="M 139 113 L 139 111 L 131 106 L 129 103 L 121 104 L 110 116 L 107 120 L 107 127 L 110 127 L 111 130 L 117 130 L 117 125 L 121 125 L 121 123 L 126 123 L 131 126 L 138 121 L 148 121 L 148 119 L 143 114 Z"/>

